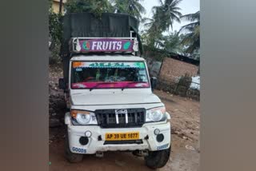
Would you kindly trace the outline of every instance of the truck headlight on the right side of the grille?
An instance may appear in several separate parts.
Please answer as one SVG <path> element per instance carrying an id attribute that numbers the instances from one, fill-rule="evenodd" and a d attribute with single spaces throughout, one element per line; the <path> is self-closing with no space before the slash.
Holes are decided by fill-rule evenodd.
<path id="1" fill-rule="evenodd" d="M 166 107 L 158 107 L 146 110 L 146 122 L 150 121 L 165 121 Z"/>

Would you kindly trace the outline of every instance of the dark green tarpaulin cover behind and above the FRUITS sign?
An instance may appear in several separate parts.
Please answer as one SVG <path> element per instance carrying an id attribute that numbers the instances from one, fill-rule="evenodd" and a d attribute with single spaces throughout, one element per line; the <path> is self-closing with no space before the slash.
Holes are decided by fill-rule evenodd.
<path id="1" fill-rule="evenodd" d="M 70 61 L 70 38 L 127 38 L 130 30 L 137 34 L 140 53 L 142 54 L 142 43 L 138 36 L 138 20 L 127 14 L 103 13 L 101 18 L 96 18 L 91 13 L 66 14 L 62 18 L 63 34 L 61 56 L 63 62 L 63 73 L 68 81 L 68 68 Z"/>

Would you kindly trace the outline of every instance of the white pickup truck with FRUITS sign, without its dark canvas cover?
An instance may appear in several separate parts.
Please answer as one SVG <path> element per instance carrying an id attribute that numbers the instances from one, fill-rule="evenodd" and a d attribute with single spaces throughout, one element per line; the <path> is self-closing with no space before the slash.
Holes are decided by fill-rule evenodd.
<path id="1" fill-rule="evenodd" d="M 71 53 L 64 55 L 66 79 L 58 83 L 68 109 L 68 161 L 82 161 L 85 154 L 103 157 L 106 151 L 132 152 L 145 157 L 153 169 L 169 160 L 170 114 L 153 93 L 157 80 L 150 78 L 146 60 L 136 56 L 138 41 L 133 35 L 70 38 Z"/>

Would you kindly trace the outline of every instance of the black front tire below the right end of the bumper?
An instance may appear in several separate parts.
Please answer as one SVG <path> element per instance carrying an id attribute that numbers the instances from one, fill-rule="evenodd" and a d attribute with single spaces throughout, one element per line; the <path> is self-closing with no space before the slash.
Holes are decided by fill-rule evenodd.
<path id="1" fill-rule="evenodd" d="M 149 155 L 145 158 L 146 166 L 150 169 L 162 168 L 166 165 L 170 157 L 170 148 L 159 151 L 149 151 Z"/>

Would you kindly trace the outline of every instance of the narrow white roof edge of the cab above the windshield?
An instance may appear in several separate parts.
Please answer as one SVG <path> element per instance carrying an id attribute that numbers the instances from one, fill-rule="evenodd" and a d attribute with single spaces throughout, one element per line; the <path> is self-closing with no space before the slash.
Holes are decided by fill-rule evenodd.
<path id="1" fill-rule="evenodd" d="M 127 54 L 81 54 L 73 56 L 70 61 L 145 61 L 144 58 Z"/>

